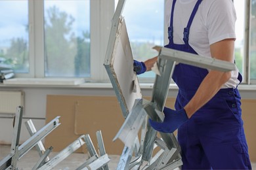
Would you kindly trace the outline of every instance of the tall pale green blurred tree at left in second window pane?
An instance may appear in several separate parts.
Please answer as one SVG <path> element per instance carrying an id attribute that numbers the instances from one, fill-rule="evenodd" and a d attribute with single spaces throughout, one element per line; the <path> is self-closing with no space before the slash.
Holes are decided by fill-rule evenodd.
<path id="1" fill-rule="evenodd" d="M 74 48 L 70 44 L 74 18 L 58 8 L 47 10 L 45 18 L 45 75 L 72 76 Z"/>

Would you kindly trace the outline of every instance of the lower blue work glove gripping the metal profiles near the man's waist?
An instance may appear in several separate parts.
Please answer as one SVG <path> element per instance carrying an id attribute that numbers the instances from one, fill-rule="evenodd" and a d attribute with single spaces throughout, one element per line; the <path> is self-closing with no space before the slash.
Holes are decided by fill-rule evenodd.
<path id="1" fill-rule="evenodd" d="M 163 109 L 163 113 L 165 114 L 163 122 L 154 122 L 151 119 L 149 119 L 149 122 L 154 129 L 164 133 L 173 133 L 173 131 L 178 129 L 182 124 L 184 124 L 184 122 L 188 120 L 188 116 L 186 115 L 186 111 L 184 109 L 172 110 L 165 107 Z"/>

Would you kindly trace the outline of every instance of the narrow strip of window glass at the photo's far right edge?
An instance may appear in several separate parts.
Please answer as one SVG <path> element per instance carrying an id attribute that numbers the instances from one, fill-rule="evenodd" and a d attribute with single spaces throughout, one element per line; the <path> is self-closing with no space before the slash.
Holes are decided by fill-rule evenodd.
<path id="1" fill-rule="evenodd" d="M 251 79 L 256 79 L 256 0 L 251 1 L 251 28 L 250 28 L 250 67 Z"/>

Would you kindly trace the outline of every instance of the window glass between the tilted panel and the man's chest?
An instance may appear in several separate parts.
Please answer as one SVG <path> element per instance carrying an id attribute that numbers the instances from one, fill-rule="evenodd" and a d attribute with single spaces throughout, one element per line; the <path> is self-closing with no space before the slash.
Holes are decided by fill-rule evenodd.
<path id="1" fill-rule="evenodd" d="M 117 2 L 117 1 L 116 1 Z M 163 46 L 164 1 L 129 0 L 125 1 L 122 16 L 125 18 L 133 58 L 145 61 L 158 55 L 152 47 Z M 155 77 L 152 71 L 139 77 Z"/>

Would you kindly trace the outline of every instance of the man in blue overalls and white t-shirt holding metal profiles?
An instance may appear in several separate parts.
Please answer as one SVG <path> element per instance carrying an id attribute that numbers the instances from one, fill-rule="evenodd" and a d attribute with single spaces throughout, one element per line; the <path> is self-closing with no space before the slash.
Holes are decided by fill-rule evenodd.
<path id="1" fill-rule="evenodd" d="M 165 4 L 169 44 L 165 47 L 234 63 L 236 12 L 231 0 L 169 0 Z M 171 11 L 170 11 L 171 10 Z M 157 57 L 134 61 L 137 74 L 150 71 Z M 175 109 L 164 108 L 161 132 L 178 129 L 182 169 L 251 169 L 237 86 L 242 76 L 179 63 Z"/>

